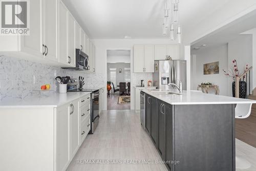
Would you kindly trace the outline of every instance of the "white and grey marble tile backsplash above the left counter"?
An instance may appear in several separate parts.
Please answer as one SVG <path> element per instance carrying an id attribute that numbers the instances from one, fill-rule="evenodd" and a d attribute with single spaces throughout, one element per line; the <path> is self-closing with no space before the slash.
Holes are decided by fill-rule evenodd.
<path id="1" fill-rule="evenodd" d="M 38 62 L 0 57 L 0 99 L 5 97 L 25 98 L 41 85 L 50 84 L 51 90 L 57 90 L 56 76 L 84 77 L 84 88 L 103 87 L 103 76 L 84 71 L 70 71 L 58 67 L 42 65 Z"/>

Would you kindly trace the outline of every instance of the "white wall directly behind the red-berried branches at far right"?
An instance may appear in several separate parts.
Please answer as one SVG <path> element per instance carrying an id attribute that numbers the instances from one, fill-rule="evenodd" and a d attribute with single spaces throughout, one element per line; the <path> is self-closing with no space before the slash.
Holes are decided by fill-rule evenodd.
<path id="1" fill-rule="evenodd" d="M 228 69 L 233 68 L 232 60 L 238 62 L 238 69 L 242 72 L 245 65 L 252 66 L 252 35 L 240 35 L 228 42 Z M 251 78 L 253 73 L 251 72 Z M 228 95 L 232 96 L 232 79 L 228 78 Z M 252 87 L 252 85 L 251 85 Z"/>

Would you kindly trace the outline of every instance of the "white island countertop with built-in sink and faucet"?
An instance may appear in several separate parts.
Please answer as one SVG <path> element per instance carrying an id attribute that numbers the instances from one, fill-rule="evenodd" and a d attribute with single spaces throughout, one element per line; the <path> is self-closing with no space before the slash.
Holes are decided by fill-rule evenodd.
<path id="1" fill-rule="evenodd" d="M 193 91 L 183 91 L 181 95 L 179 94 L 164 94 L 164 93 L 155 93 L 152 91 L 163 91 L 160 89 L 142 90 L 144 93 L 149 94 L 153 97 L 156 97 L 162 101 L 165 101 L 173 105 L 181 104 L 242 104 L 242 103 L 256 103 L 254 100 L 234 98 L 228 96 L 214 95 L 214 94 L 205 94 L 200 92 Z M 176 92 L 175 90 L 169 90 L 170 92 Z"/>

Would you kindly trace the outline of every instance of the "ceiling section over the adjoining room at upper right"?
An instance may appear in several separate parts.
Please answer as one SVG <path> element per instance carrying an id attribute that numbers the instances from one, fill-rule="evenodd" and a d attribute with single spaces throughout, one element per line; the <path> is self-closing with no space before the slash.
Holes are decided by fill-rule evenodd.
<path id="1" fill-rule="evenodd" d="M 256 10 L 235 20 L 234 22 L 216 30 L 197 40 L 191 46 L 192 50 L 227 44 L 230 40 L 241 36 L 241 33 L 256 28 Z M 206 46 L 203 46 L 206 45 Z M 198 49 L 199 48 L 199 49 Z"/>

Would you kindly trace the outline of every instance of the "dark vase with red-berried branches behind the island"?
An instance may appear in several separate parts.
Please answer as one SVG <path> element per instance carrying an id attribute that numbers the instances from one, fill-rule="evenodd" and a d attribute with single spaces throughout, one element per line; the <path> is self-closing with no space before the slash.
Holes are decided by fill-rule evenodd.
<path id="1" fill-rule="evenodd" d="M 241 75 L 244 74 L 244 72 L 248 69 L 248 64 L 244 67 L 244 71 L 241 72 L 238 69 L 238 64 L 237 60 L 234 59 L 232 60 L 233 63 L 233 68 L 231 68 L 228 71 L 223 70 L 224 75 L 227 77 L 231 77 L 233 79 L 232 82 L 232 95 L 233 97 L 236 97 L 236 77 L 240 77 Z M 246 98 L 246 92 L 247 92 L 247 85 L 246 82 L 244 81 L 245 76 L 243 77 L 243 80 L 239 81 L 239 97 L 240 98 Z"/>

